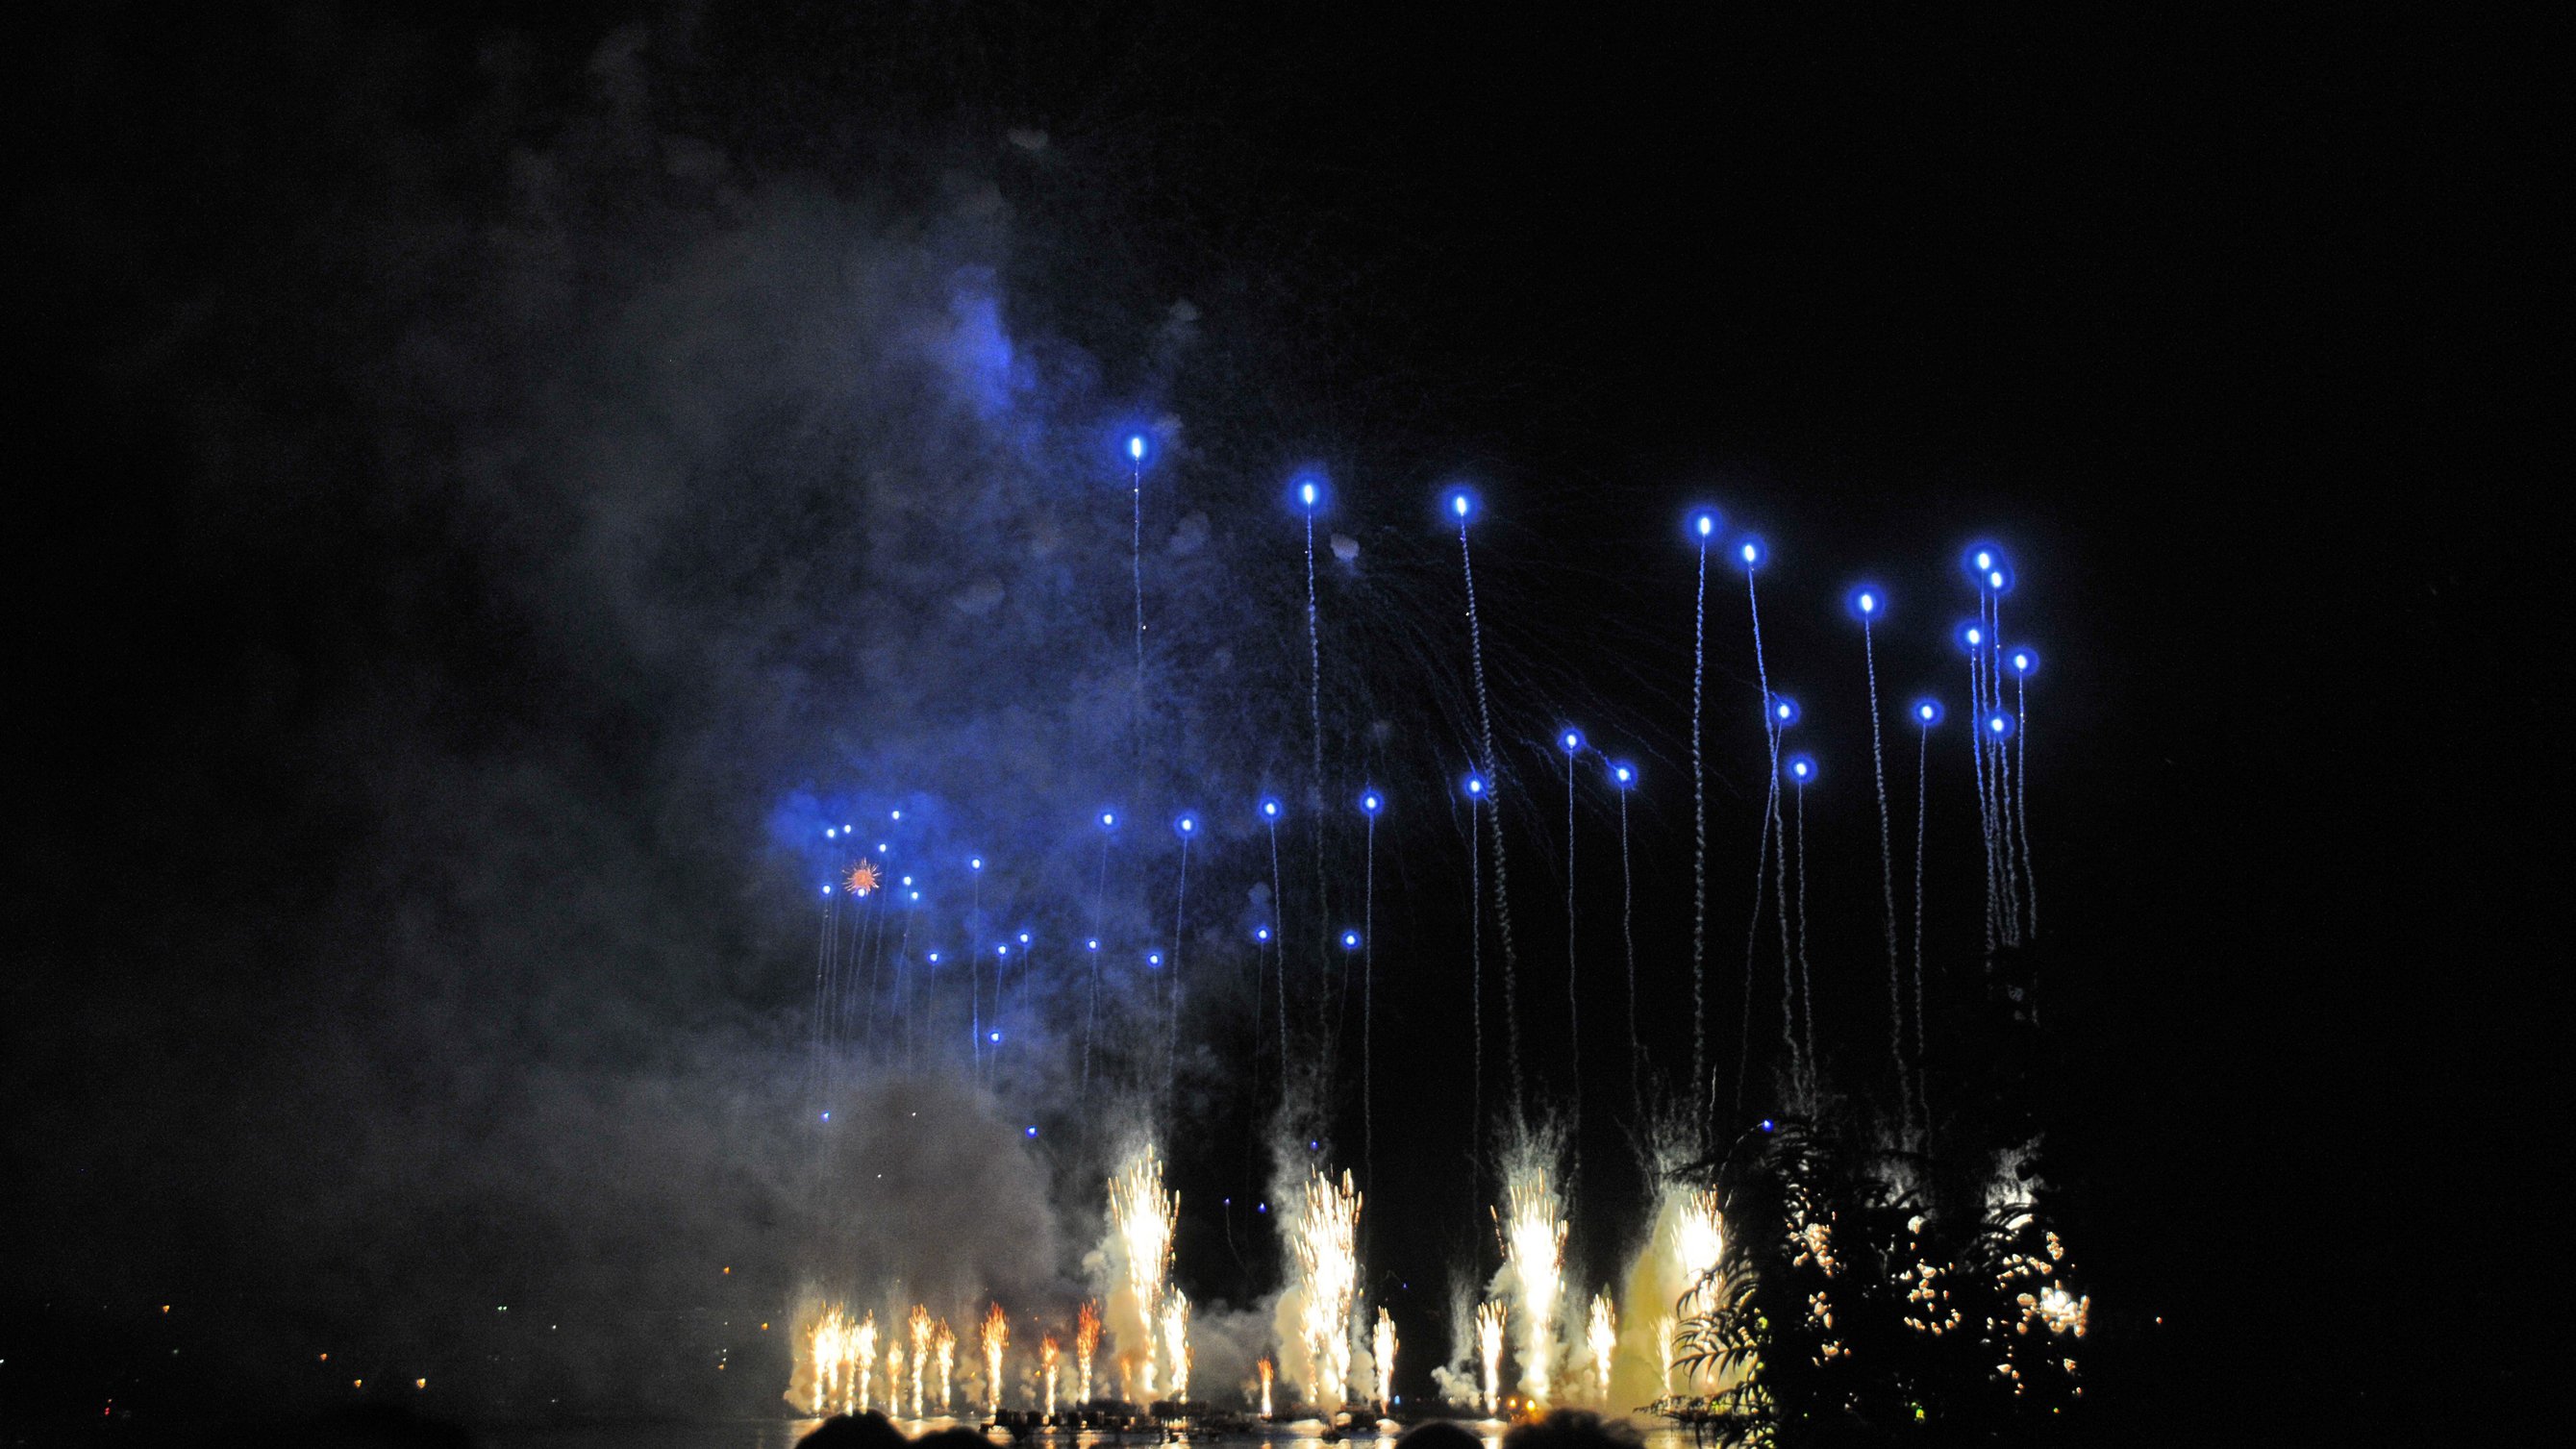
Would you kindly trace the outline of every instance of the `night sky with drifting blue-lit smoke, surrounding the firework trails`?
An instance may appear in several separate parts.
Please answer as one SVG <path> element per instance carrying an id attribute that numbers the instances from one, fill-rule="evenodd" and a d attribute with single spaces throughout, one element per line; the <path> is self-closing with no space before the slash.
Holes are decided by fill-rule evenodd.
<path id="1" fill-rule="evenodd" d="M 1883 687 L 1958 695 L 1955 556 L 1999 538 L 2048 656 L 2045 1096 L 2128 1413 L 2202 1387 L 2396 1434 L 2524 1392 L 2563 1338 L 2548 46 L 2380 10 L 1216 10 L 126 8 L 13 46 L 0 1416 L 307 1405 L 317 1343 L 435 1364 L 459 1418 L 644 1380 L 662 1413 L 765 1410 L 775 1354 L 690 1390 L 636 1341 L 793 1289 L 814 829 L 912 800 L 925 852 L 1012 860 L 1010 909 L 1061 937 L 1118 803 L 1149 829 L 1108 916 L 1141 939 L 1162 821 L 1242 813 L 1190 883 L 1239 942 L 1249 800 L 1306 788 L 1298 468 L 1332 479 L 1319 551 L 1358 543 L 1319 579 L 1332 790 L 1394 795 L 1370 1210 L 1409 1341 L 1476 1243 L 1435 517 L 1471 481 L 1543 1089 L 1571 1078 L 1561 723 L 1643 770 L 1641 975 L 1687 988 L 1682 510 L 1777 553 L 1765 643 L 1832 767 L 1819 939 L 1855 973 L 1829 1017 L 1868 1066 L 1839 600 L 1886 582 Z M 1754 697 L 1739 574 L 1710 690 Z M 1739 715 L 1710 728 L 1728 1066 Z M 1607 1277 L 1636 1174 L 1615 803 L 1584 790 L 1577 1241 Z M 1252 955 L 1203 970 L 1177 1140 L 1231 1143 Z M 1646 1009 L 1656 1060 L 1682 1011 Z M 1182 1282 L 1273 1287 L 1218 1207 L 1265 1192 L 1257 1153 L 1175 1171 Z M 541 1356 L 492 1328 L 510 1297 L 616 1328 Z M 536 1367 L 477 1380 L 484 1349 Z"/>

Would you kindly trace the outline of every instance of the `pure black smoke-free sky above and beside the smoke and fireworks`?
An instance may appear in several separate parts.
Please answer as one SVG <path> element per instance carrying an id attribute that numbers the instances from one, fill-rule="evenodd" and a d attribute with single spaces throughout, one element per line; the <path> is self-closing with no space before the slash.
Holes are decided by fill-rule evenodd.
<path id="1" fill-rule="evenodd" d="M 15 46 L 15 1060 L 75 1006 L 142 1040 L 167 1024 L 178 968 L 121 942 L 209 896 L 294 919 L 332 891 L 330 836 L 301 829 L 330 803 L 299 759 L 255 739 L 209 757 L 188 705 L 242 687 L 219 633 L 355 669 L 294 620 L 366 597 L 368 548 L 402 551 L 325 543 L 325 507 L 299 517 L 312 548 L 252 579 L 291 602 L 242 605 L 245 579 L 180 535 L 193 445 L 157 399 L 191 363 L 137 360 L 137 340 L 216 278 L 330 296 L 245 257 L 327 216 L 368 124 L 438 134 L 505 31 L 569 90 L 626 18 L 111 13 Z M 2563 293 L 2540 211 L 2566 139 L 2535 36 L 2372 8 L 698 23 L 677 106 L 750 154 L 824 154 L 809 121 L 866 111 L 1121 157 L 1128 190 L 1036 206 L 1043 226 L 1113 219 L 1118 286 L 1038 286 L 1020 322 L 1087 347 L 1121 396 L 1154 386 L 1136 299 L 1270 278 L 1252 353 L 1293 358 L 1257 401 L 1275 435 L 1293 453 L 1360 417 L 1425 489 L 1479 471 L 1515 515 L 1494 548 L 1551 558 L 1515 607 L 1566 636 L 1602 579 L 1649 566 L 1633 587 L 1680 605 L 1687 553 L 1649 564 L 1641 540 L 1692 497 L 1783 551 L 1814 540 L 1783 587 L 1819 615 L 1842 569 L 2009 535 L 2050 600 L 2066 721 L 2038 808 L 2092 1266 L 2105 1302 L 2172 1333 L 2141 1354 L 2177 1403 L 2146 1405 L 2210 1392 L 2393 1431 L 2532 1387 L 2563 1338 L 2543 1220 L 2563 1130 L 2540 1086 L 2563 1022 L 2540 746 L 2561 651 L 2537 504 Z M 389 95 L 353 106 L 350 77 Z M 350 456 L 335 476 L 363 479 Z M 1649 649 L 1669 679 L 1672 641 Z M 1633 679 L 1587 687 L 1605 710 L 1672 708 Z M 265 854 L 255 885 L 227 842 Z M 1713 870 L 1718 919 L 1736 878 Z M 10 1114 L 131 1109 L 85 1076 L 131 1040 L 44 1053 Z M 1391 1071 L 1386 1091 L 1419 1086 Z M 41 1233 L 10 1256 L 46 1253 Z M 1417 1271 L 1453 1246 L 1409 1238 Z"/>

